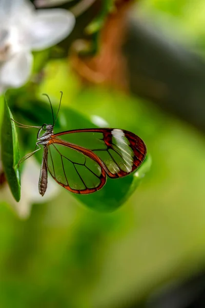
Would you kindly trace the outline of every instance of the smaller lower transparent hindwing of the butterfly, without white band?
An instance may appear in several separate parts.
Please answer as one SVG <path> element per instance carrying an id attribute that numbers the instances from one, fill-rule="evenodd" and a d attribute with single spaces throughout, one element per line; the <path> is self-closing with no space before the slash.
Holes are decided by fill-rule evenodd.
<path id="1" fill-rule="evenodd" d="M 54 180 L 76 194 L 90 194 L 106 183 L 106 172 L 100 159 L 88 151 L 66 145 L 48 146 L 47 167 Z"/>

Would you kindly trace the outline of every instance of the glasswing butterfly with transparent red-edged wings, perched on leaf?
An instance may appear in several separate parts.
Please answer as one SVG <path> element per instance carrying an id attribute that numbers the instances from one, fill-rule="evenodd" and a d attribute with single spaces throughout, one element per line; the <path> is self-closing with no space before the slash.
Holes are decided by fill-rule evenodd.
<path id="1" fill-rule="evenodd" d="M 85 128 L 54 133 L 63 92 L 55 120 L 50 98 L 43 95 L 48 97 L 53 124 L 32 126 L 39 129 L 36 148 L 19 161 L 22 163 L 43 146 L 38 181 L 40 195 L 44 196 L 46 192 L 48 171 L 67 190 L 75 194 L 91 194 L 106 184 L 107 176 L 112 179 L 125 177 L 144 161 L 147 153 L 144 141 L 128 130 Z M 31 127 L 20 125 L 18 127 Z"/>

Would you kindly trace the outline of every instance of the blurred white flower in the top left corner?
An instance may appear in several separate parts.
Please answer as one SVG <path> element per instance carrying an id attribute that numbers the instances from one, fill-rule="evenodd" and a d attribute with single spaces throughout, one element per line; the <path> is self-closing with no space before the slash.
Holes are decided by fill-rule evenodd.
<path id="1" fill-rule="evenodd" d="M 74 15 L 63 9 L 35 10 L 29 0 L 0 0 L 0 93 L 25 84 L 31 51 L 59 43 L 74 24 Z"/>

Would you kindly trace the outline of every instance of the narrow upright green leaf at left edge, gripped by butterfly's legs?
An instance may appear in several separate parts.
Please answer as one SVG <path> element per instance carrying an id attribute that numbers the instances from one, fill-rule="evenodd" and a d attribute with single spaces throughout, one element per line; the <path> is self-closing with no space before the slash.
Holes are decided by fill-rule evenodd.
<path id="1" fill-rule="evenodd" d="M 11 118 L 13 117 L 5 99 L 1 131 L 2 163 L 13 197 L 18 202 L 20 200 L 19 148 L 16 128 Z"/>

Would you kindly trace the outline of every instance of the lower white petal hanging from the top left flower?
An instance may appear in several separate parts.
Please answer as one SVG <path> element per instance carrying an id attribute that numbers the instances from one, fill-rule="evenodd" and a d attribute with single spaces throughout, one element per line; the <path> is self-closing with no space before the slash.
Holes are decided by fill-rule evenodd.
<path id="1" fill-rule="evenodd" d="M 29 78 L 33 56 L 30 52 L 17 53 L 0 66 L 0 88 L 3 86 L 18 88 Z"/>

